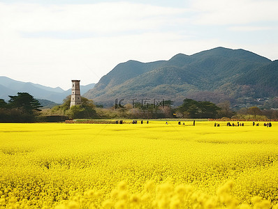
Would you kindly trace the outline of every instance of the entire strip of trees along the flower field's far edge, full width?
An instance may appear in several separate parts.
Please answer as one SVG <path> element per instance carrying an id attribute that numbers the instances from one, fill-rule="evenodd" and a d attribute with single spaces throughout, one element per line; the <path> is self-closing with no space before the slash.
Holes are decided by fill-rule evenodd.
<path id="1" fill-rule="evenodd" d="M 173 101 L 166 100 L 156 104 L 115 104 L 110 109 L 96 107 L 92 100 L 81 97 L 81 104 L 70 108 L 71 95 L 65 98 L 64 103 L 41 114 L 42 105 L 29 93 L 17 93 L 9 96 L 5 102 L 0 99 L 0 122 L 31 123 L 31 122 L 58 122 L 68 119 L 96 119 L 96 118 L 234 118 L 240 120 L 277 120 L 278 111 L 275 109 L 259 109 L 258 107 L 243 108 L 232 111 L 230 102 L 214 104 L 207 101 L 184 99 L 182 105 L 173 107 Z"/>

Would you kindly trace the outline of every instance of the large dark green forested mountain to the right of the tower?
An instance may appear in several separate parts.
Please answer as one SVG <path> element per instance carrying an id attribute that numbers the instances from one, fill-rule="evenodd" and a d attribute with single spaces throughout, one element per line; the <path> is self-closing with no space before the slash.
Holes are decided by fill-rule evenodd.
<path id="1" fill-rule="evenodd" d="M 119 63 L 84 94 L 111 106 L 116 99 L 173 100 L 184 98 L 240 104 L 252 98 L 278 95 L 278 61 L 244 49 L 217 47 L 177 54 L 168 61 Z"/>

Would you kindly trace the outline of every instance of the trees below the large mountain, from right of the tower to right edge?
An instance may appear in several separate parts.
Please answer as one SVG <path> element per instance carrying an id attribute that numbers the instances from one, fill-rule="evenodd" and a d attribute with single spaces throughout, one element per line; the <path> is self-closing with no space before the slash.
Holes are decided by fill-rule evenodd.
<path id="1" fill-rule="evenodd" d="M 207 101 L 184 99 L 180 107 L 173 107 L 173 101 L 167 100 L 163 105 L 126 104 L 119 107 L 115 104 L 110 109 L 98 108 L 101 118 L 228 118 L 240 120 L 277 120 L 278 111 L 275 109 L 259 109 L 258 107 L 242 108 L 233 111 L 229 101 L 214 104 Z M 226 119 L 225 119 L 226 118 Z"/>

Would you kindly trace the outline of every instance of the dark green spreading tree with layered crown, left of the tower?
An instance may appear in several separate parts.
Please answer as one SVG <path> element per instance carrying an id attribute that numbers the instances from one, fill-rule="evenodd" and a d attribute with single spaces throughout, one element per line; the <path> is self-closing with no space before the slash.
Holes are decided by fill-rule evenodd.
<path id="1" fill-rule="evenodd" d="M 12 96 L 9 95 L 10 100 L 9 106 L 11 108 L 19 108 L 24 111 L 24 113 L 27 114 L 33 114 L 33 111 L 41 111 L 41 109 L 38 109 L 41 106 L 40 102 L 36 100 L 32 95 L 29 93 L 20 93 L 18 92 L 17 95 Z"/>

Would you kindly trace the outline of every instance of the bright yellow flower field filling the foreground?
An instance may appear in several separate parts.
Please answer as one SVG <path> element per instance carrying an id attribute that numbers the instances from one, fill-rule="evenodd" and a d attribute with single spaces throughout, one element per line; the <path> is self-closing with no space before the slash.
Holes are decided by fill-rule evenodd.
<path id="1" fill-rule="evenodd" d="M 0 208 L 278 208 L 278 123 L 165 123 L 1 123 Z"/>

